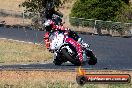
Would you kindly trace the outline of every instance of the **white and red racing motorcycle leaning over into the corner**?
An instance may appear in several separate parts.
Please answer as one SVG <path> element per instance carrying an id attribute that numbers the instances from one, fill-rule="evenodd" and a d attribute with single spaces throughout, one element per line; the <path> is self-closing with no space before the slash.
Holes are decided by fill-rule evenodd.
<path id="1" fill-rule="evenodd" d="M 44 26 L 50 26 L 49 20 L 45 21 Z M 46 33 L 44 38 L 46 38 Z M 97 63 L 97 58 L 89 47 L 84 47 L 73 38 L 64 35 L 63 31 L 50 32 L 47 48 L 50 52 L 54 53 L 53 63 L 55 65 L 61 65 L 67 61 L 76 66 L 83 65 L 86 62 L 89 65 Z"/>

